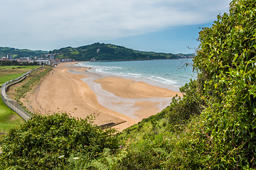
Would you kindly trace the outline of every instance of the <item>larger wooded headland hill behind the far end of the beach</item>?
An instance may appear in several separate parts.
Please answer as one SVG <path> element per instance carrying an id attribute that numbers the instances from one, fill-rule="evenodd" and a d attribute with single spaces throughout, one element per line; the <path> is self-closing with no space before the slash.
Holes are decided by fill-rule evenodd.
<path id="1" fill-rule="evenodd" d="M 193 54 L 174 55 L 162 52 L 142 52 L 112 44 L 94 43 L 81 47 L 63 47 L 49 52 L 55 54 L 55 58 L 70 58 L 76 61 L 117 61 L 117 60 L 167 60 L 178 58 L 191 58 Z"/>

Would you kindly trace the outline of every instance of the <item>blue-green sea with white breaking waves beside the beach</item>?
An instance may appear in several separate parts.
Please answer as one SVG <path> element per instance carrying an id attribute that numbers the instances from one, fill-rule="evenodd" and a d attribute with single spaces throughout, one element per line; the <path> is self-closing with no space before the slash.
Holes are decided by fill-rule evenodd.
<path id="1" fill-rule="evenodd" d="M 143 60 L 124 62 L 80 62 L 80 67 L 90 67 L 89 72 L 126 79 L 142 80 L 168 89 L 178 89 L 196 79 L 192 59 Z"/>

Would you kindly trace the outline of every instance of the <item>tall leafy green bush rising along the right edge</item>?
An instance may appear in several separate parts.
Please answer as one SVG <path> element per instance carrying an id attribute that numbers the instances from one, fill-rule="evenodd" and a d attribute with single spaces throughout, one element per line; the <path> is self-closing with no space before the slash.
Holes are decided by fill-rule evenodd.
<path id="1" fill-rule="evenodd" d="M 172 138 L 176 147 L 170 151 L 171 168 L 256 168 L 255 18 L 255 1 L 235 0 L 229 14 L 218 16 L 211 28 L 199 33 L 201 45 L 193 59 L 198 80 L 187 92 L 196 90 L 203 109 Z"/>

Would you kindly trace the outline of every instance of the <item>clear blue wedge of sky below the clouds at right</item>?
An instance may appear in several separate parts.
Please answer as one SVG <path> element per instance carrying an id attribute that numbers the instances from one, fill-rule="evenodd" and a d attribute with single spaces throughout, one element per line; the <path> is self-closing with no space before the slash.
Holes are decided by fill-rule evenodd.
<path id="1" fill-rule="evenodd" d="M 118 38 L 112 42 L 134 50 L 188 54 L 195 52 L 198 47 L 199 42 L 196 39 L 201 28 L 210 27 L 212 24 L 213 22 L 195 26 L 179 26 L 154 33 Z"/>

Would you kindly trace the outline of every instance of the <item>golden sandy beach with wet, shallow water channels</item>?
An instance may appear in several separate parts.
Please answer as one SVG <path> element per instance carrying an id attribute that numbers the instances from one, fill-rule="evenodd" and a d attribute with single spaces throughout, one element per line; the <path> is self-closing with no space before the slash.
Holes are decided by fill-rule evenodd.
<path id="1" fill-rule="evenodd" d="M 74 62 L 53 68 L 28 103 L 38 113 L 62 111 L 78 118 L 92 114 L 95 124 L 121 123 L 114 128 L 123 130 L 159 113 L 176 94 L 182 96 L 143 81 L 92 74 Z"/>

